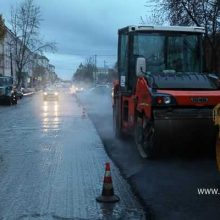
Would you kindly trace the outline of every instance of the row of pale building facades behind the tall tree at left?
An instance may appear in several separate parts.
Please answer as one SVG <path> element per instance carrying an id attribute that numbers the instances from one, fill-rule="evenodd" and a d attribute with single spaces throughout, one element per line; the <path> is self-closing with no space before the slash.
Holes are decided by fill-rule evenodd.
<path id="1" fill-rule="evenodd" d="M 6 34 L 0 40 L 0 75 L 12 76 L 14 82 L 17 82 L 18 68 L 16 65 L 16 51 L 15 51 L 16 38 L 14 34 L 6 28 Z M 19 41 L 18 45 L 19 47 Z M 34 82 L 46 83 L 50 78 L 55 78 L 55 66 L 49 64 L 49 59 L 46 56 L 33 54 L 28 48 L 26 49 L 26 56 L 29 62 L 23 67 L 22 70 L 22 86 L 34 86 Z"/>

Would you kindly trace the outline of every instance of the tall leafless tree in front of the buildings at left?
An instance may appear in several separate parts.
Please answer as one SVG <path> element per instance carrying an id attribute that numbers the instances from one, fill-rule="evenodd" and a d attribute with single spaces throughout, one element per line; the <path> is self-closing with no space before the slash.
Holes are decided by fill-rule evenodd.
<path id="1" fill-rule="evenodd" d="M 10 45 L 18 69 L 18 86 L 21 84 L 24 69 L 33 60 L 34 54 L 55 49 L 54 43 L 43 43 L 40 40 L 40 22 L 40 8 L 35 5 L 34 0 L 24 0 L 18 7 L 11 9 L 10 23 L 14 37 Z"/>

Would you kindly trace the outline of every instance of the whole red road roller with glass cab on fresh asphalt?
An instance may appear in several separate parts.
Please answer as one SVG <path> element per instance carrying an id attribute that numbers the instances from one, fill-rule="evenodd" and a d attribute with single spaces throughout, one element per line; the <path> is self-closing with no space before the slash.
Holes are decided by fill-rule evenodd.
<path id="1" fill-rule="evenodd" d="M 212 111 L 220 103 L 219 80 L 202 71 L 203 33 L 202 27 L 175 26 L 118 32 L 114 130 L 118 137 L 133 134 L 142 157 L 173 139 L 185 147 L 199 140 L 215 145 Z"/>

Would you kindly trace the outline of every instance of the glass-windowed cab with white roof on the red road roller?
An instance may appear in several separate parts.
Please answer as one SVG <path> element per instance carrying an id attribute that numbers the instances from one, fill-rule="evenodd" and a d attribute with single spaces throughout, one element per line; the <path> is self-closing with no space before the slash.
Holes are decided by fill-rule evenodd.
<path id="1" fill-rule="evenodd" d="M 147 74 L 201 73 L 203 33 L 202 27 L 128 26 L 120 29 L 118 71 L 121 90 L 134 89 L 140 67 L 141 72 Z"/>

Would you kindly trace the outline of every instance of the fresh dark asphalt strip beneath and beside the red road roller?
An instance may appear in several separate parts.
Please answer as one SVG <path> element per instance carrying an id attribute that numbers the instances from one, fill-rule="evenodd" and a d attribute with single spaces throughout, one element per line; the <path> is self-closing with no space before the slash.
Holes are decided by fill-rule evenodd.
<path id="1" fill-rule="evenodd" d="M 143 201 L 150 219 L 220 219 L 220 173 L 215 158 L 174 151 L 154 160 L 142 159 L 133 138 L 114 137 L 110 95 L 79 97 L 87 105 L 106 151 Z M 198 188 L 217 188 L 219 192 L 199 195 Z"/>

